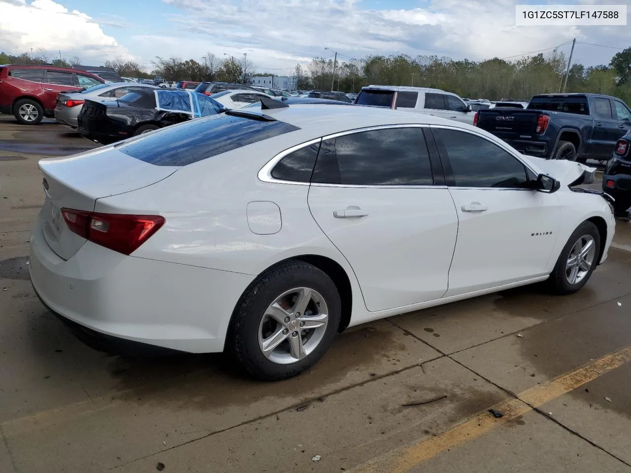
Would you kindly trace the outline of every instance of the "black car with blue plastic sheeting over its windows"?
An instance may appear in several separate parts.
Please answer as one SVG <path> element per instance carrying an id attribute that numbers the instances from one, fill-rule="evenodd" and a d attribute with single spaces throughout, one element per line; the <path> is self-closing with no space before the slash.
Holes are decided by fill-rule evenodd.
<path id="1" fill-rule="evenodd" d="M 108 102 L 86 100 L 78 131 L 108 144 L 223 110 L 216 100 L 188 90 L 136 90 Z"/>

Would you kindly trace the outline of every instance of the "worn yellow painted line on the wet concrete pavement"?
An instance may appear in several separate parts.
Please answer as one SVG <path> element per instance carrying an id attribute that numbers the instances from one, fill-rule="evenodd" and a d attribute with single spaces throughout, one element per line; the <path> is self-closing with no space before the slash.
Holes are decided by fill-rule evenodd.
<path id="1" fill-rule="evenodd" d="M 581 368 L 554 378 L 547 383 L 527 389 L 518 394 L 517 399 L 505 400 L 489 407 L 489 409 L 503 412 L 504 417 L 502 418 L 494 418 L 486 410 L 478 412 L 473 418 L 435 437 L 419 441 L 408 447 L 392 450 L 350 471 L 353 473 L 404 473 L 425 462 L 425 460 L 483 435 L 507 421 L 532 411 L 534 407 L 543 406 L 546 402 L 557 399 L 557 397 L 615 370 L 628 361 L 631 361 L 631 345 L 590 361 Z"/>

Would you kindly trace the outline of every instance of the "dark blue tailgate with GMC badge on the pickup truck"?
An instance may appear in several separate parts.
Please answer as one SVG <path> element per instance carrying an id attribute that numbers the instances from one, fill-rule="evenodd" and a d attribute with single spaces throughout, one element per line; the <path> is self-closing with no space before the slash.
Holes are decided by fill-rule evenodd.
<path id="1" fill-rule="evenodd" d="M 537 134 L 537 119 L 541 115 L 538 110 L 520 108 L 487 108 L 478 110 L 478 127 L 498 137 L 514 137 L 514 134 L 531 137 Z"/>

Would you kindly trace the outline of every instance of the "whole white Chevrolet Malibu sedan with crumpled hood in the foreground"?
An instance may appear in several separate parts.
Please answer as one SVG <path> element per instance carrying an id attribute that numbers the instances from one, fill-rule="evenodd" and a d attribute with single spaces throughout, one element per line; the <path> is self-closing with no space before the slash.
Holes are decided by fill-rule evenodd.
<path id="1" fill-rule="evenodd" d="M 337 332 L 545 281 L 570 294 L 615 223 L 593 168 L 454 120 L 264 103 L 39 161 L 30 276 L 83 332 L 292 377 Z"/>

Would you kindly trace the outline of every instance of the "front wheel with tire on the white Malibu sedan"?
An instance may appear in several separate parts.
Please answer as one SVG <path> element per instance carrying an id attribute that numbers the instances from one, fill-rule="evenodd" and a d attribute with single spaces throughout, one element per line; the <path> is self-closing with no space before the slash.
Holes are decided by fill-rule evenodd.
<path id="1" fill-rule="evenodd" d="M 600 258 L 600 233 L 596 225 L 584 221 L 570 235 L 546 281 L 558 295 L 572 294 L 581 289 L 596 269 Z"/>

